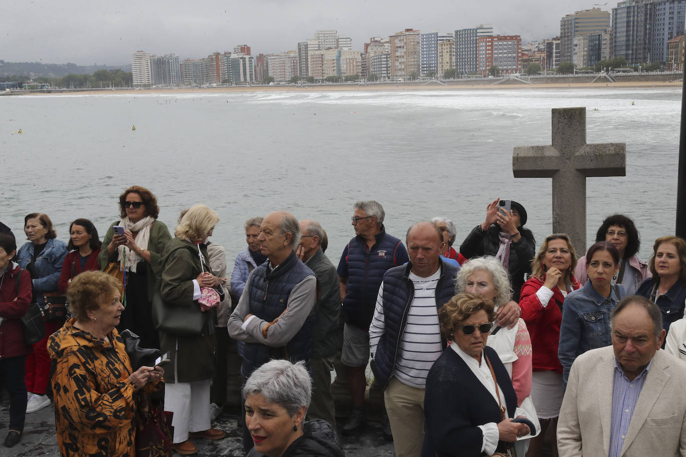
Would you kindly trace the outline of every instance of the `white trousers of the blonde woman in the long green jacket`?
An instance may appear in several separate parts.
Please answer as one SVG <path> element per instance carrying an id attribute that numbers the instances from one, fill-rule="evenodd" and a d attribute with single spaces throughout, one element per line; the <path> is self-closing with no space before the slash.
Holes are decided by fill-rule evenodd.
<path id="1" fill-rule="evenodd" d="M 165 411 L 174 412 L 174 444 L 188 439 L 188 432 L 210 428 L 210 384 L 212 380 L 165 384 Z"/>

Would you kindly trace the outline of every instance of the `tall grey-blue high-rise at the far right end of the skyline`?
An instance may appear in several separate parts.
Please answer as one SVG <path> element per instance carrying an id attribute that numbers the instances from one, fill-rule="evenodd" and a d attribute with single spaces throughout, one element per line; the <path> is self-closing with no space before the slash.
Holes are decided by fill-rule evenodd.
<path id="1" fill-rule="evenodd" d="M 612 9 L 613 57 L 627 64 L 667 61 L 667 42 L 684 33 L 686 0 L 625 0 Z"/>

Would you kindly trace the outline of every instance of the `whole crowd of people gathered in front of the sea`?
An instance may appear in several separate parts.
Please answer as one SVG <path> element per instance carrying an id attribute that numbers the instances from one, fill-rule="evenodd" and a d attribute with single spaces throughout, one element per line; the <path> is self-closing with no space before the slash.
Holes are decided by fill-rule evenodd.
<path id="1" fill-rule="evenodd" d="M 80 218 L 64 243 L 32 212 L 18 247 L 0 223 L 7 447 L 54 402 L 62 455 L 133 456 L 137 411 L 157 397 L 171 448 L 196 454 L 193 440 L 226 436 L 212 425 L 237 355 L 247 456 L 342 456 L 338 433 L 367 424 L 368 365 L 399 457 L 686 456 L 681 238 L 644 262 L 635 223 L 613 214 L 585 252 L 564 233 L 536 251 L 524 206 L 495 199 L 455 249 L 447 217 L 403 240 L 381 204 L 357 201 L 338 266 L 320 223 L 274 211 L 244 223 L 229 276 L 211 208 L 180 212 L 174 238 L 150 190 L 126 189 L 119 209 L 102 241 Z M 28 344 L 33 306 L 45 335 Z M 132 362 L 131 332 L 164 360 Z M 350 389 L 342 423 L 334 369 Z"/>

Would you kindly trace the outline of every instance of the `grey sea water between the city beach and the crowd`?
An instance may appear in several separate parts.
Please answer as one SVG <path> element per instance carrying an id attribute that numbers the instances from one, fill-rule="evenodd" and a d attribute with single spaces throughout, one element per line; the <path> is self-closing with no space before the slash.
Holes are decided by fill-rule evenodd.
<path id="1" fill-rule="evenodd" d="M 681 88 L 141 92 L 0 98 L 0 221 L 20 244 L 29 212 L 47 213 L 62 240 L 78 217 L 104 235 L 134 184 L 156 195 L 172 233 L 193 203 L 216 210 L 211 240 L 229 271 L 244 221 L 272 210 L 319 221 L 338 264 L 365 199 L 399 238 L 448 217 L 456 249 L 489 201 L 515 199 L 540 243 L 552 232 L 551 180 L 512 177 L 512 148 L 549 145 L 551 108 L 574 106 L 587 108 L 588 143 L 626 143 L 626 177 L 587 180 L 587 244 L 615 212 L 634 219 L 644 259 L 674 233 Z"/>

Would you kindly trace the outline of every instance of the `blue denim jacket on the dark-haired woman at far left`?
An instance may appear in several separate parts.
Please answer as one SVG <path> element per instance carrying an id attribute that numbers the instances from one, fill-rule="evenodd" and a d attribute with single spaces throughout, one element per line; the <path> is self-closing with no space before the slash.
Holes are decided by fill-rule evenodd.
<path id="1" fill-rule="evenodd" d="M 24 243 L 19 251 L 16 253 L 16 262 L 19 267 L 26 268 L 31 262 L 31 257 L 34 255 L 34 243 L 30 241 Z M 57 284 L 60 281 L 60 274 L 62 273 L 62 264 L 64 257 L 67 256 L 67 245 L 64 241 L 50 238 L 47 240 L 47 245 L 43 252 L 36 257 L 34 268 L 38 277 L 32 279 L 32 286 L 34 292 L 34 301 L 38 304 L 43 304 L 43 294 L 40 292 L 56 292 Z"/>

